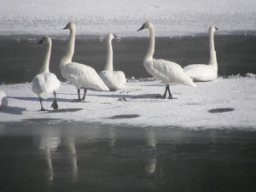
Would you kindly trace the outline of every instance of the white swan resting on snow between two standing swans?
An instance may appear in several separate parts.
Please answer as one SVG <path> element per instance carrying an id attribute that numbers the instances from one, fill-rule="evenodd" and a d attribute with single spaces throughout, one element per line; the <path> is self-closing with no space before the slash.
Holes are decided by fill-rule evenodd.
<path id="1" fill-rule="evenodd" d="M 104 71 L 99 73 L 100 78 L 108 86 L 109 90 L 124 90 L 126 79 L 125 73 L 121 71 L 113 71 L 113 49 L 112 39 L 117 38 L 113 33 L 108 33 L 107 45 L 108 45 L 108 56 Z"/>

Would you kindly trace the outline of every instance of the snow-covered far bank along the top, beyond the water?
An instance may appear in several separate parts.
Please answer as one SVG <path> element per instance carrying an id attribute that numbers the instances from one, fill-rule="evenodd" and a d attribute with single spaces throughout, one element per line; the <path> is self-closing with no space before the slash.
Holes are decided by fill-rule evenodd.
<path id="1" fill-rule="evenodd" d="M 157 36 L 255 31 L 254 0 L 1 0 L 0 35 L 67 35 L 62 28 L 73 20 L 80 35 L 146 36 L 136 32 L 152 20 Z"/>

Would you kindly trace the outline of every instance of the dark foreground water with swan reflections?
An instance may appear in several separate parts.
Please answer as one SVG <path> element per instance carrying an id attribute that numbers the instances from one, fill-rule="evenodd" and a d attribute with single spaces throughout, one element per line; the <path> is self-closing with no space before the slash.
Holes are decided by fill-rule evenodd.
<path id="1" fill-rule="evenodd" d="M 0 191 L 256 189 L 255 131 L 49 122 L 0 124 Z"/>

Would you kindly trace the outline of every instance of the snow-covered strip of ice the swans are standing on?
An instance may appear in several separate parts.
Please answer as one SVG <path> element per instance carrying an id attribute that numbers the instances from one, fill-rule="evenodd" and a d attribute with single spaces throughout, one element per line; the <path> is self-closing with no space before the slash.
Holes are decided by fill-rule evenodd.
<path id="1" fill-rule="evenodd" d="M 0 121 L 55 119 L 191 129 L 256 129 L 255 76 L 196 84 L 197 88 L 172 85 L 177 99 L 168 100 L 154 98 L 165 90 L 160 81 L 132 80 L 127 84 L 127 93 L 89 90 L 86 102 L 75 103 L 71 102 L 77 97 L 75 87 L 62 83 L 57 95 L 60 108 L 48 112 L 38 112 L 40 105 L 32 93 L 32 84 L 3 84 L 0 90 L 9 97 L 9 107 L 0 110 Z M 44 107 L 49 108 L 51 102 L 44 102 Z"/>

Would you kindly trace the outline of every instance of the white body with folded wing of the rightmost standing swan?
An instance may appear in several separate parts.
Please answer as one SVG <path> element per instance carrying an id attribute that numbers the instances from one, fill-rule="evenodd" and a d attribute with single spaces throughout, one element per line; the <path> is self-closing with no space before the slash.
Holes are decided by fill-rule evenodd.
<path id="1" fill-rule="evenodd" d="M 162 80 L 165 84 L 190 84 L 192 80 L 183 73 L 182 67 L 175 62 L 166 60 L 153 60 L 151 65 L 154 77 Z"/>

